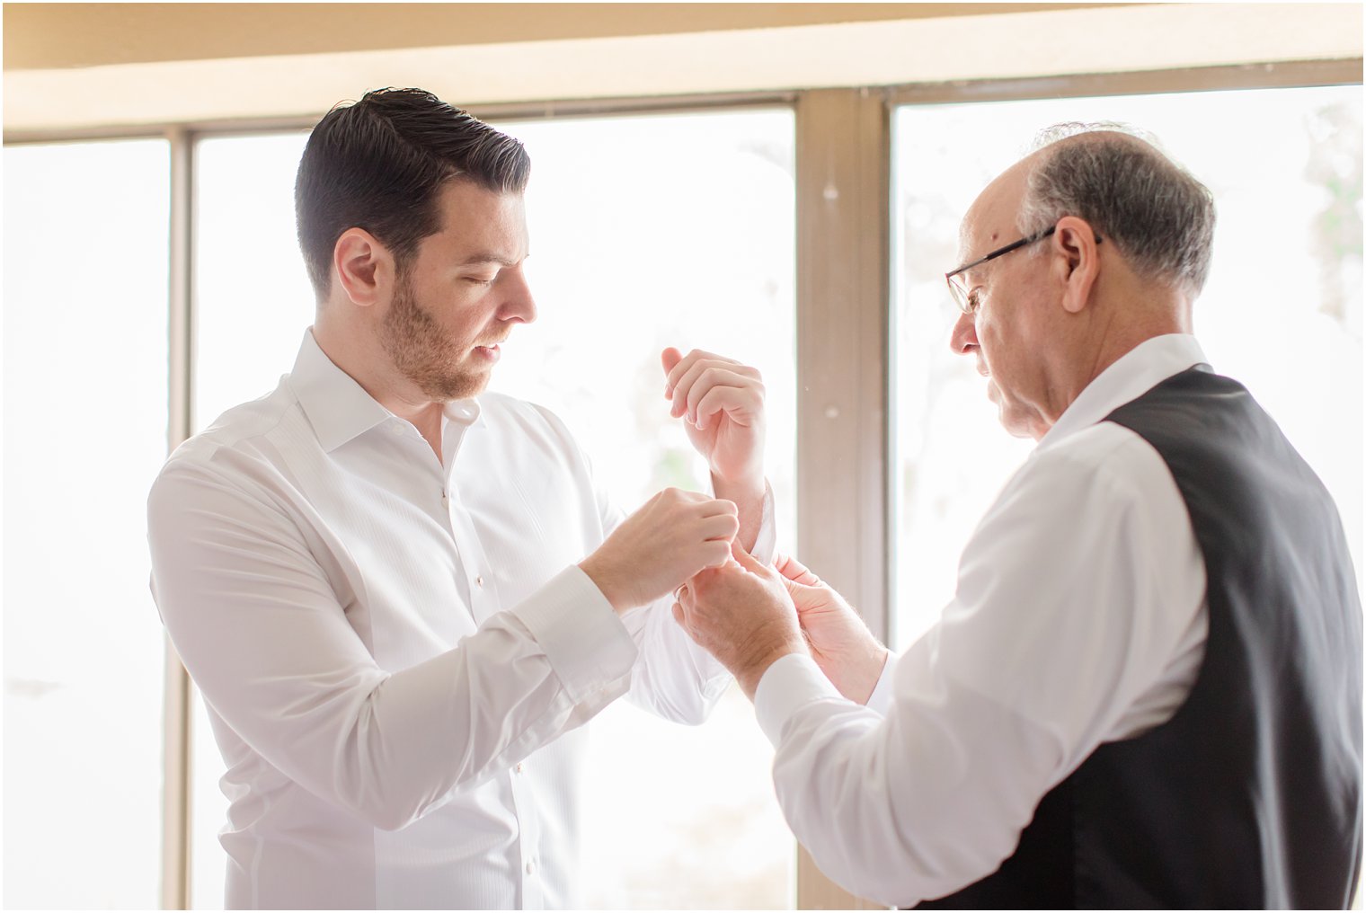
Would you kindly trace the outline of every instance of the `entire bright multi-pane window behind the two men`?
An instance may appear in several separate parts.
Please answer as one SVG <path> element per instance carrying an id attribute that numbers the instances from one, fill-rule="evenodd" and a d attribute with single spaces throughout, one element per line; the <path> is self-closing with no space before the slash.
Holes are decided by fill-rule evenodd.
<path id="1" fill-rule="evenodd" d="M 1287 71 L 1305 81 L 1359 79 L 1359 60 L 1355 70 L 1328 63 Z M 1261 78 L 1247 68 L 1216 72 L 1238 85 Z M 1132 77 L 1138 85 L 1187 78 Z M 1019 83 L 999 89 L 1018 93 Z M 904 92 L 904 100 L 921 90 L 889 92 Z M 970 90 L 982 97 L 997 86 Z M 1057 90 L 1049 81 L 1048 92 Z M 865 187 L 851 197 L 851 187 L 844 202 L 829 206 L 840 198 L 836 182 L 813 164 L 836 163 L 840 180 L 858 176 L 872 186 L 865 171 L 881 164 L 880 92 L 728 97 L 724 104 L 740 107 L 682 113 L 494 120 L 527 144 L 535 165 L 527 269 L 540 318 L 514 332 L 493 388 L 560 414 L 631 510 L 663 485 L 706 482 L 705 466 L 668 418 L 658 351 L 701 347 L 758 365 L 769 391 L 780 543 L 795 548 L 798 374 L 817 388 L 811 402 L 825 395 L 813 379 L 873 377 L 852 399 L 859 433 L 874 426 L 876 433 L 837 440 L 822 435 L 828 425 L 807 421 L 802 452 L 824 459 L 861 448 L 850 466 L 858 476 L 869 465 L 862 457 L 885 454 L 882 417 L 893 417 L 893 548 L 884 554 L 882 498 L 869 493 L 880 491 L 881 470 L 859 476 L 850 489 L 858 496 L 837 504 L 813 499 L 817 487 L 829 491 L 828 480 L 807 476 L 803 532 L 807 543 L 820 536 L 835 543 L 831 555 L 858 569 L 855 585 L 878 582 L 870 610 L 881 610 L 889 571 L 891 640 L 904 648 L 951 597 L 962 545 L 1033 447 L 1005 436 L 981 379 L 947 347 L 955 312 L 943 272 L 956 261 L 958 220 L 1040 127 L 1127 120 L 1154 131 L 1216 191 L 1214 273 L 1197 303 L 1197 332 L 1216 369 L 1251 387 L 1328 482 L 1363 567 L 1359 85 L 893 108 L 889 329 L 880 320 L 885 271 L 840 272 L 855 258 L 822 247 L 825 228 L 835 226 L 881 258 L 884 219 L 867 204 L 884 193 Z M 858 118 L 836 104 L 846 96 L 861 98 Z M 865 130 L 870 111 L 877 130 Z M 802 169 L 796 122 L 820 146 Z M 197 432 L 224 409 L 268 392 L 311 323 L 292 210 L 305 126 L 250 135 L 172 128 L 169 142 L 5 148 L 8 906 L 178 903 L 180 854 L 191 869 L 187 902 L 221 906 L 223 763 L 197 696 L 187 727 L 176 709 L 179 686 L 164 711 L 164 636 L 148 592 L 145 498 L 165 458 L 168 425 L 182 429 L 183 398 Z M 172 190 L 172 161 L 189 163 L 193 187 Z M 882 180 L 878 174 L 878 187 Z M 193 262 L 179 254 L 169 261 L 167 253 L 189 249 L 168 231 L 172 194 L 184 190 L 190 198 L 175 202 L 176 212 L 186 204 L 194 215 Z M 810 317 L 836 306 L 837 318 L 863 318 L 846 327 L 856 347 L 806 346 L 800 366 L 796 200 L 807 226 L 803 250 L 817 251 L 803 256 L 802 325 L 829 327 Z M 189 370 L 169 344 L 179 346 L 179 333 L 168 339 L 189 317 L 183 295 L 168 301 L 168 271 L 194 279 Z M 872 273 L 877 283 L 850 282 Z M 811 291 L 820 288 L 844 298 L 818 301 Z M 806 335 L 813 338 L 824 333 Z M 869 369 L 854 354 L 881 357 L 884 342 L 892 353 L 891 402 L 882 399 L 881 362 Z M 816 415 L 833 417 L 833 407 L 818 405 L 824 411 Z M 810 402 L 805 407 L 810 414 Z M 865 484 L 869 478 L 877 484 Z M 874 528 L 877 547 L 862 548 L 855 539 Z M 831 529 L 858 536 L 846 541 Z M 794 905 L 795 853 L 773 800 L 770 749 L 738 692 L 698 728 L 617 703 L 591 733 L 583 782 L 594 808 L 582 849 L 587 905 Z M 171 769 L 167 783 L 161 772 L 167 754 L 173 759 L 182 746 L 191 756 L 187 841 L 163 835 L 163 820 L 184 809 L 180 771 Z M 79 810 L 79 826 L 52 809 Z M 807 905 L 854 903 L 828 891 L 809 860 L 802 865 Z"/>

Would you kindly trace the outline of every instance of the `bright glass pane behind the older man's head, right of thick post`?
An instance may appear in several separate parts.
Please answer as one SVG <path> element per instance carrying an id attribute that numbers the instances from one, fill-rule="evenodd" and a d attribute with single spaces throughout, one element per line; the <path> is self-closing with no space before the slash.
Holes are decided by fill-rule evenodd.
<path id="1" fill-rule="evenodd" d="M 907 107 L 896 112 L 896 645 L 952 597 L 958 554 L 1033 441 L 1007 437 L 948 350 L 944 271 L 973 198 L 1067 120 L 1154 133 L 1214 193 L 1195 332 L 1328 485 L 1362 569 L 1362 89 L 1268 89 Z M 1250 154 L 1249 150 L 1255 150 Z M 1326 394 L 1326 395 L 1325 395 Z"/>

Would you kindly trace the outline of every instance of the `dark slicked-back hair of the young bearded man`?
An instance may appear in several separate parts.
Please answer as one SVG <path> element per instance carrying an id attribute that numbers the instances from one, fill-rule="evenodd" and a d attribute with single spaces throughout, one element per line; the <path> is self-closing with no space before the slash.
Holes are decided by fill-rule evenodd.
<path id="1" fill-rule="evenodd" d="M 455 178 L 522 193 L 531 160 L 522 144 L 421 89 L 376 89 L 340 104 L 313 128 L 294 182 L 299 247 L 322 301 L 332 251 L 365 228 L 402 269 L 441 231 L 437 194 Z"/>

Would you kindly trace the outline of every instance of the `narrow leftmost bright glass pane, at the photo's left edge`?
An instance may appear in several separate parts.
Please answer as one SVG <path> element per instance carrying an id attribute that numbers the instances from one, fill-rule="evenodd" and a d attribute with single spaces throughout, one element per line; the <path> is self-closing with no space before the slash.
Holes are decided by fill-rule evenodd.
<path id="1" fill-rule="evenodd" d="M 164 141 L 4 150 L 4 905 L 156 908 Z"/>

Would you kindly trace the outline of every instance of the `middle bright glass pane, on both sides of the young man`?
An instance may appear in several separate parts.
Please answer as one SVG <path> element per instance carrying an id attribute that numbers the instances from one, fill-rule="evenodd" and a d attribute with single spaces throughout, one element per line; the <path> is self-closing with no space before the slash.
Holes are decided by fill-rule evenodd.
<path id="1" fill-rule="evenodd" d="M 779 536 L 792 543 L 791 112 L 499 126 L 533 157 L 527 264 L 540 317 L 504 346 L 493 390 L 564 418 L 632 510 L 664 485 L 706 484 L 705 466 L 668 417 L 660 350 L 699 347 L 758 365 L 769 396 L 770 478 L 783 507 Z M 199 145 L 201 426 L 272 390 L 311 323 L 294 238 L 302 146 L 302 135 Z M 234 287 L 242 260 L 232 242 L 247 235 L 251 298 Z M 193 898 L 195 908 L 213 908 L 223 902 L 223 765 L 195 704 Z M 772 752 L 739 692 L 699 728 L 619 701 L 591 730 L 587 906 L 791 906 L 795 853 L 773 800 Z M 642 828 L 650 839 L 639 839 Z"/>

